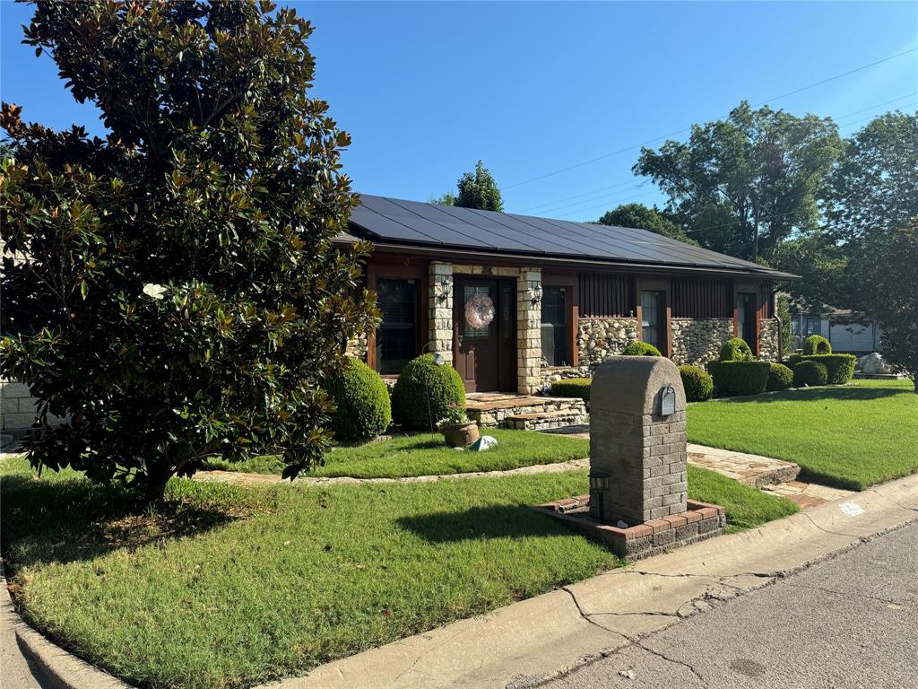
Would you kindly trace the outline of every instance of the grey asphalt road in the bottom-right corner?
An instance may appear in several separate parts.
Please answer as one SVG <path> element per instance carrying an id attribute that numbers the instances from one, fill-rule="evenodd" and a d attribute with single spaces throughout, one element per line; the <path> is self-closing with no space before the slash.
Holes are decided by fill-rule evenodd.
<path id="1" fill-rule="evenodd" d="M 918 689 L 918 524 L 543 687 Z"/>

